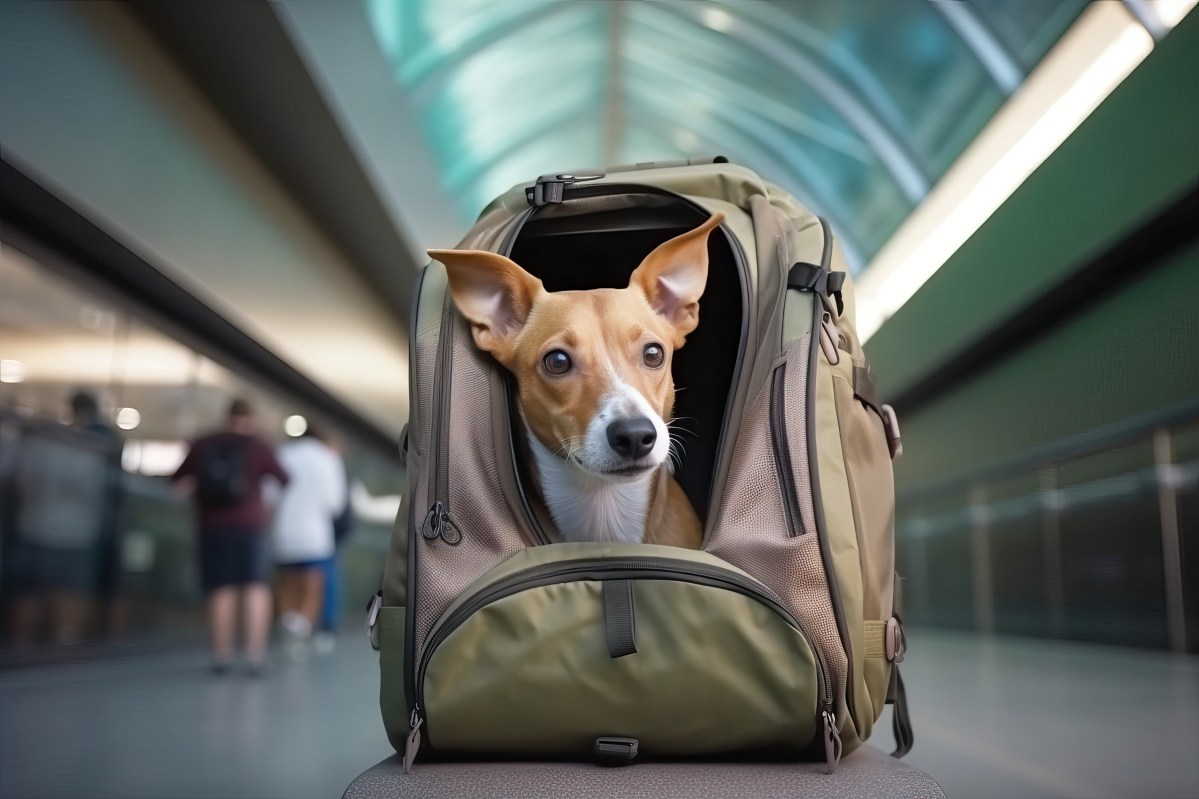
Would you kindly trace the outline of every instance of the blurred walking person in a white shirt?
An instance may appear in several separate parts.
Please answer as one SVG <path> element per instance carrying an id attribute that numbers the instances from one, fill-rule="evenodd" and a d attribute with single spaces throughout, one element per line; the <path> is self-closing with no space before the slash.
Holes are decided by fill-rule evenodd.
<path id="1" fill-rule="evenodd" d="M 290 653 L 307 654 L 320 617 L 327 563 L 333 557 L 333 519 L 347 501 L 345 464 L 314 427 L 279 447 L 291 475 L 275 513 L 275 559 L 279 567 L 279 626 Z"/>

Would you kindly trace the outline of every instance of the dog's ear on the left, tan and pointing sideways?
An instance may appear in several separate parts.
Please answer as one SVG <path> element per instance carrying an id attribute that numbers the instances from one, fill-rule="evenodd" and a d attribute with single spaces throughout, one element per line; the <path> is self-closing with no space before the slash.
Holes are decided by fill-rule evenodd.
<path id="1" fill-rule="evenodd" d="M 446 265 L 450 295 L 470 322 L 475 343 L 505 361 L 534 300 L 544 292 L 541 281 L 494 252 L 429 250 L 429 257 Z"/>

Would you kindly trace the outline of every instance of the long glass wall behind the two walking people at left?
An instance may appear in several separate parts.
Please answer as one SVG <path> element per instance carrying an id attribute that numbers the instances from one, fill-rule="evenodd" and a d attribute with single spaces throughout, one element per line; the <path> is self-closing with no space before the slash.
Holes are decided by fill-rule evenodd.
<path id="1" fill-rule="evenodd" d="M 150 630 L 199 643 L 194 513 L 167 475 L 234 397 L 254 404 L 271 444 L 288 416 L 319 416 L 7 246 L 0 286 L 0 666 Z M 80 390 L 95 419 L 73 410 Z M 355 486 L 337 595 L 356 611 L 381 579 L 402 471 L 325 429 Z"/>

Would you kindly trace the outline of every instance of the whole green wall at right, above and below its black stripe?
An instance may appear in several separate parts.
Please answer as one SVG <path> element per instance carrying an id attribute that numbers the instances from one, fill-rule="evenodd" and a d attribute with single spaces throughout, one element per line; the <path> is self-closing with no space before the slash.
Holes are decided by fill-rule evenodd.
<path id="1" fill-rule="evenodd" d="M 897 396 L 1199 184 L 1199 13 L 1145 59 L 867 346 Z M 1197 221 L 1199 227 L 1199 221 Z M 1064 310 L 1064 311 L 1068 311 Z M 900 419 L 900 488 L 1199 395 L 1199 251 Z"/>

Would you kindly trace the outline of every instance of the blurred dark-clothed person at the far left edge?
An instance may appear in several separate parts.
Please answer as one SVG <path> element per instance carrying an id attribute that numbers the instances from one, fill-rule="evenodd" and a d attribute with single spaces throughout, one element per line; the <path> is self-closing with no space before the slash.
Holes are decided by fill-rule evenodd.
<path id="1" fill-rule="evenodd" d="M 6 467 L 16 505 L 6 566 L 17 645 L 37 637 L 43 605 L 53 641 L 78 643 L 90 601 L 102 590 L 110 595 L 114 583 L 106 569 L 115 563 L 122 443 L 101 420 L 94 395 L 73 395 L 70 413 L 67 426 L 29 425 Z"/>

